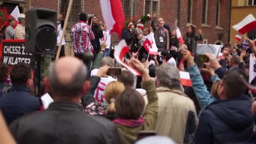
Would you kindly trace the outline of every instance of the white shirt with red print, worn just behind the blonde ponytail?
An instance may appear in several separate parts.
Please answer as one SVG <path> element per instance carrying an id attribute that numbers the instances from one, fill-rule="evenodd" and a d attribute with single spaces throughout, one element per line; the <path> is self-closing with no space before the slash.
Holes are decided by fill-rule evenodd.
<path id="1" fill-rule="evenodd" d="M 93 69 L 91 71 L 91 76 L 96 75 L 99 69 Z M 96 101 L 104 102 L 106 101 L 104 98 L 104 93 L 107 87 L 107 84 L 112 82 L 112 81 L 117 81 L 113 77 L 101 77 L 101 81 L 99 82 L 95 92 L 94 92 L 94 98 Z"/>

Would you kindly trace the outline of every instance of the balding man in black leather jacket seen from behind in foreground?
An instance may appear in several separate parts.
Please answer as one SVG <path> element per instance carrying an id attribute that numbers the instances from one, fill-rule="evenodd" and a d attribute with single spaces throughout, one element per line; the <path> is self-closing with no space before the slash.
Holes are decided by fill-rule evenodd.
<path id="1" fill-rule="evenodd" d="M 80 99 L 89 88 L 87 68 L 75 57 L 56 60 L 45 87 L 54 102 L 43 112 L 13 122 L 11 133 L 19 144 L 119 144 L 115 125 L 85 114 Z"/>

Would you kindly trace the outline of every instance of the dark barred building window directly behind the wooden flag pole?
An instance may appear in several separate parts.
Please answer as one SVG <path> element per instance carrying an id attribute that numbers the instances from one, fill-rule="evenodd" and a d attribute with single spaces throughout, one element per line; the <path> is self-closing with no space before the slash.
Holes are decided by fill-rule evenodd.
<path id="1" fill-rule="evenodd" d="M 62 13 L 63 19 L 65 19 L 67 14 L 67 8 L 69 5 L 69 0 L 61 0 L 60 3 L 60 13 Z M 83 11 L 83 0 L 73 0 L 72 8 L 69 14 L 69 22 L 78 22 L 78 14 Z"/>

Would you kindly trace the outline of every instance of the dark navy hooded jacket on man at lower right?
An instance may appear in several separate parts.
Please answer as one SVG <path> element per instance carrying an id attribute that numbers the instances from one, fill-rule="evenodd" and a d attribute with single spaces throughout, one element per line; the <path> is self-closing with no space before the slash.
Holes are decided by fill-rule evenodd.
<path id="1" fill-rule="evenodd" d="M 195 144 L 248 142 L 254 121 L 251 105 L 246 95 L 212 102 L 200 115 Z"/>

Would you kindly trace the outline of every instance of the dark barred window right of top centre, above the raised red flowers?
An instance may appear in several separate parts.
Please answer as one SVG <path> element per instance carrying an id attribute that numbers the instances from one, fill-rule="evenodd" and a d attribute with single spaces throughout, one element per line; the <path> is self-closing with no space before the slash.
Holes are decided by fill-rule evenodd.
<path id="1" fill-rule="evenodd" d="M 150 14 L 152 20 L 156 21 L 159 11 L 159 0 L 145 0 L 144 14 Z"/>

